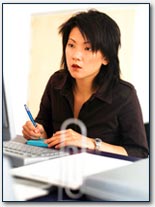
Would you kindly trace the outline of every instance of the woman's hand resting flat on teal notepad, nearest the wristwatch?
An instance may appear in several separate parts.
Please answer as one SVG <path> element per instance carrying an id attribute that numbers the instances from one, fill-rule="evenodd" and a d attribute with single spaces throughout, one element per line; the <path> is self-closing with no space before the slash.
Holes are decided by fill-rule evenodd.
<path id="1" fill-rule="evenodd" d="M 75 132 L 72 129 L 57 131 L 45 143 L 48 147 L 55 147 L 57 149 L 65 146 L 76 146 L 84 148 L 94 148 L 93 142 L 90 138 Z"/>

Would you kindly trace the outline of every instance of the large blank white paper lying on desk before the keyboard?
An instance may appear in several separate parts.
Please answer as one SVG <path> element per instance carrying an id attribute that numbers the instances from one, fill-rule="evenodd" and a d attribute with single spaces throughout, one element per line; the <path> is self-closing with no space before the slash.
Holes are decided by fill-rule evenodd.
<path id="1" fill-rule="evenodd" d="M 14 168 L 11 174 L 70 189 L 79 189 L 86 176 L 131 163 L 127 160 L 83 152 Z"/>

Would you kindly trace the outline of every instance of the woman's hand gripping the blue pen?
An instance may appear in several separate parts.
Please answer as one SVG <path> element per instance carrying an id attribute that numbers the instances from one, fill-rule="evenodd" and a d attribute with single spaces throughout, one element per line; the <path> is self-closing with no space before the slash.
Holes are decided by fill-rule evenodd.
<path id="1" fill-rule="evenodd" d="M 41 124 L 37 123 L 35 127 L 31 121 L 27 121 L 23 125 L 22 130 L 23 136 L 26 139 L 39 139 L 39 138 L 47 138 L 47 134 L 44 130 L 44 127 Z"/>

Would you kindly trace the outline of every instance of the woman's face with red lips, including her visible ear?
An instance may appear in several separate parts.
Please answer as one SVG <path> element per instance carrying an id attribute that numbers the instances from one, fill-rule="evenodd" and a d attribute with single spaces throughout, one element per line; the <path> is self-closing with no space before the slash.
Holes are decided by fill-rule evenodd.
<path id="1" fill-rule="evenodd" d="M 92 51 L 90 42 L 82 36 L 78 27 L 69 34 L 65 55 L 68 70 L 75 79 L 93 80 L 101 65 L 107 64 L 100 51 Z"/>

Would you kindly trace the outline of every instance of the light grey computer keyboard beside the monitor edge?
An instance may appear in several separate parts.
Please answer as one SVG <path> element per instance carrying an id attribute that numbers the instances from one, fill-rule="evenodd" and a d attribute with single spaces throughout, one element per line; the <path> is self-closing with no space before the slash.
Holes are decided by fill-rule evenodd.
<path id="1" fill-rule="evenodd" d="M 4 141 L 3 153 L 11 158 L 13 167 L 69 155 L 66 151 L 31 146 L 16 141 Z"/>

